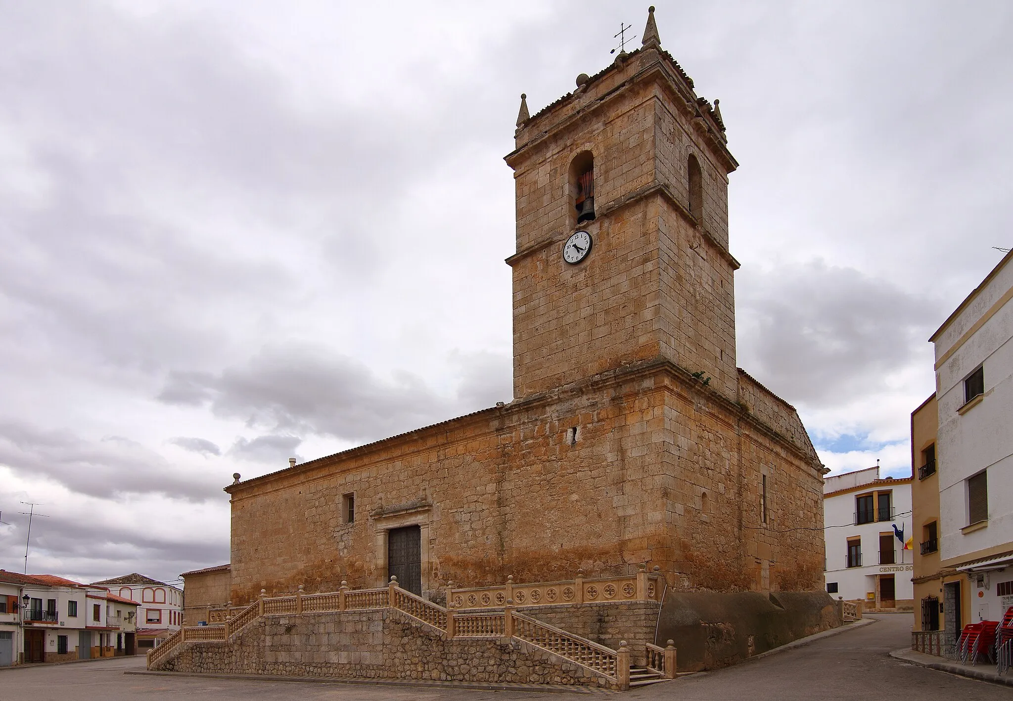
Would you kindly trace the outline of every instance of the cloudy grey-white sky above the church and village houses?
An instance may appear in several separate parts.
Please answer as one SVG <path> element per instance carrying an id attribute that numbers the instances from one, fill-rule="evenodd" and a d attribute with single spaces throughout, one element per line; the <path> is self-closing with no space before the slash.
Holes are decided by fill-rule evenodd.
<path id="1" fill-rule="evenodd" d="M 738 364 L 910 471 L 1013 245 L 1013 5 L 653 0 L 721 99 Z M 0 0 L 0 567 L 228 559 L 244 478 L 511 392 L 513 149 L 646 4 Z M 639 40 L 636 40 L 638 43 Z"/>

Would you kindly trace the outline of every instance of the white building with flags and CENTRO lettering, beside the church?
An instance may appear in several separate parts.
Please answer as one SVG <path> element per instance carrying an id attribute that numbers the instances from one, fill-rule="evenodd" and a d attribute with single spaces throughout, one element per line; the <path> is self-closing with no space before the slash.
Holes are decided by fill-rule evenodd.
<path id="1" fill-rule="evenodd" d="M 911 477 L 879 478 L 879 468 L 824 481 L 825 579 L 832 597 L 865 608 L 914 607 Z"/>

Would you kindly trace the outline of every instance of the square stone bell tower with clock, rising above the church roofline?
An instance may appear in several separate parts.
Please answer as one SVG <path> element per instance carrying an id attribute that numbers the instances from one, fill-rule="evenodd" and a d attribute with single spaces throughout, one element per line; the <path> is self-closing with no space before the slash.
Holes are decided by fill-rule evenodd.
<path id="1" fill-rule="evenodd" d="M 641 48 L 577 76 L 572 93 L 534 116 L 522 95 L 505 159 L 517 181 L 515 397 L 667 359 L 735 399 L 737 163 L 717 100 L 697 97 L 661 49 L 653 11 Z"/>

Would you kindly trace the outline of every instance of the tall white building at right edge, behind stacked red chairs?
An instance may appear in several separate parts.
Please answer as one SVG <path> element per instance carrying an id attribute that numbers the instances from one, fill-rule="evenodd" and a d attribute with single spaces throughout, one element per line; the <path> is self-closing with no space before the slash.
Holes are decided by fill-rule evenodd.
<path id="1" fill-rule="evenodd" d="M 944 586 L 947 624 L 1000 620 L 1013 606 L 1013 253 L 930 340 L 940 566 L 965 572 L 970 589 Z"/>

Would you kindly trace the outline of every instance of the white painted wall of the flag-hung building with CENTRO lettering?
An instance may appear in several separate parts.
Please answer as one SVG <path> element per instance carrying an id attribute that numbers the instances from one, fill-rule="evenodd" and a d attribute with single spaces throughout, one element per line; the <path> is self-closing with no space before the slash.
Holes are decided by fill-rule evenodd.
<path id="1" fill-rule="evenodd" d="M 866 594 L 875 592 L 875 575 L 892 574 L 894 596 L 897 599 L 914 599 L 915 587 L 911 581 L 914 570 L 913 550 L 904 550 L 904 544 L 893 538 L 895 550 L 895 564 L 879 564 L 879 533 L 892 531 L 892 525 L 904 529 L 905 540 L 912 537 L 911 518 L 911 483 L 874 483 L 879 476 L 878 468 L 861 470 L 861 479 L 853 477 L 844 483 L 849 487 L 854 487 L 849 491 L 834 496 L 824 497 L 824 525 L 828 527 L 843 526 L 843 528 L 827 528 L 825 533 L 827 547 L 827 571 L 824 574 L 825 582 L 837 582 L 838 592 L 831 596 L 835 599 L 866 600 Z M 849 473 L 856 475 L 859 473 Z M 849 475 L 841 475 L 847 477 Z M 829 480 L 828 480 L 829 481 Z M 834 486 L 834 483 L 831 484 Z M 840 488 L 840 487 L 839 487 Z M 871 524 L 856 526 L 855 497 L 876 489 L 879 491 L 890 490 L 891 502 L 895 509 L 897 518 L 894 521 L 877 521 Z M 854 537 L 862 539 L 862 566 L 848 567 L 848 539 Z M 914 546 L 918 547 L 918 538 L 915 538 Z"/>

